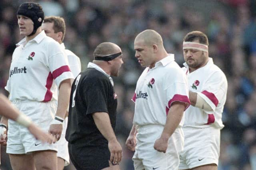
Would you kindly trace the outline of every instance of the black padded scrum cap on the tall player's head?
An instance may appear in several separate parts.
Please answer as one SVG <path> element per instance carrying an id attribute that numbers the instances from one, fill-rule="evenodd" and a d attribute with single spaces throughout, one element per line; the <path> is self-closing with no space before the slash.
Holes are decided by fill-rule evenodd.
<path id="1" fill-rule="evenodd" d="M 35 2 L 24 2 L 23 4 L 21 4 L 17 11 L 17 15 L 26 16 L 33 21 L 34 29 L 30 35 L 36 33 L 36 30 L 42 25 L 44 21 L 43 8 L 40 4 Z"/>

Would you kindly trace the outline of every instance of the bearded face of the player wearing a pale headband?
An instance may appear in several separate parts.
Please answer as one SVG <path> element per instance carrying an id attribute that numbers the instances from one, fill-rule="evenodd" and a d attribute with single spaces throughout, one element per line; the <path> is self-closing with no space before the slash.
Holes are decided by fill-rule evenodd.
<path id="1" fill-rule="evenodd" d="M 194 41 L 198 43 L 198 41 Z M 200 68 L 201 66 L 204 66 L 206 62 L 208 61 L 208 57 L 204 54 L 206 52 L 200 51 L 198 49 L 184 49 L 183 50 L 183 56 L 185 62 L 188 64 L 190 68 Z"/>

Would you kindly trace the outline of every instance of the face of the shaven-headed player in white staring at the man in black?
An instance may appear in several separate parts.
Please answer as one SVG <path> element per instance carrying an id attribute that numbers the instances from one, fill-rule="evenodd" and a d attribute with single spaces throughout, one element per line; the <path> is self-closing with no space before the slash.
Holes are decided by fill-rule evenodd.
<path id="1" fill-rule="evenodd" d="M 134 41 L 135 57 L 142 67 L 150 66 L 154 67 L 155 61 L 153 56 L 153 48 L 146 45 L 144 41 L 135 39 Z"/>

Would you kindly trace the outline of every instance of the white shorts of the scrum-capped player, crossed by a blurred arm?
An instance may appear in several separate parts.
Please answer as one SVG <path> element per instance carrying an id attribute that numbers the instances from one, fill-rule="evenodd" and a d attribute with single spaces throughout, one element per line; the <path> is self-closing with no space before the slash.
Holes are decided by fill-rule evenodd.
<path id="1" fill-rule="evenodd" d="M 30 117 L 33 123 L 38 125 L 44 132 L 48 132 L 50 123 L 54 119 L 57 110 L 56 102 L 12 102 L 21 112 Z M 28 129 L 11 119 L 8 120 L 8 140 L 6 153 L 28 154 L 38 150 L 56 150 L 56 144 L 42 144 L 41 141 L 28 131 Z"/>

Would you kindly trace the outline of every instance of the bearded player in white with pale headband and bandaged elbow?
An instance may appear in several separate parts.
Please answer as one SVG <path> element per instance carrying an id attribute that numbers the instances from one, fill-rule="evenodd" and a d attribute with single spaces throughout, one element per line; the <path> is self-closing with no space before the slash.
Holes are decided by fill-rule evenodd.
<path id="1" fill-rule="evenodd" d="M 179 170 L 217 170 L 220 156 L 222 111 L 228 83 L 225 74 L 208 56 L 208 38 L 192 31 L 183 39 L 184 67 L 191 106 L 186 110 L 184 150 Z"/>

